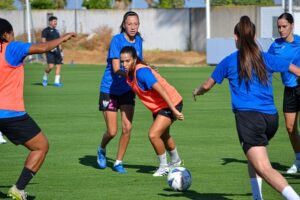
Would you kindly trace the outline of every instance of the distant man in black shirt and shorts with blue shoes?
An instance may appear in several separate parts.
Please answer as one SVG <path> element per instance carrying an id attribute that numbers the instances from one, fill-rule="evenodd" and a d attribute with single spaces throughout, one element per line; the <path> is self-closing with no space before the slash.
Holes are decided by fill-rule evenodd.
<path id="1" fill-rule="evenodd" d="M 49 26 L 42 31 L 42 42 L 55 40 L 60 37 L 60 34 L 56 29 L 56 26 L 57 26 L 57 17 L 55 16 L 49 17 Z M 56 70 L 55 70 L 55 79 L 54 79 L 53 86 L 56 87 L 63 86 L 63 84 L 60 81 L 61 68 L 63 64 L 62 46 L 58 45 L 53 49 L 51 49 L 49 52 L 46 53 L 46 57 L 47 57 L 48 66 L 44 71 L 44 76 L 42 81 L 43 86 L 46 87 L 48 85 L 48 76 L 54 66 L 56 66 Z"/>

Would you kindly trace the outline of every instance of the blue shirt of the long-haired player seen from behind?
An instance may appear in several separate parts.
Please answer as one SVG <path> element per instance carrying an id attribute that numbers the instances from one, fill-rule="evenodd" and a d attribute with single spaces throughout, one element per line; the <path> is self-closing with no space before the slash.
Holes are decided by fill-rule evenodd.
<path id="1" fill-rule="evenodd" d="M 224 58 L 213 71 L 211 78 L 216 83 L 221 84 L 224 78 L 229 80 L 233 112 L 277 113 L 273 99 L 272 73 L 287 72 L 290 64 L 286 60 L 268 53 L 262 52 L 262 56 L 267 70 L 267 85 L 261 84 L 255 74 L 252 74 L 252 80 L 248 82 L 248 87 L 243 79 L 239 81 L 238 51 Z"/>

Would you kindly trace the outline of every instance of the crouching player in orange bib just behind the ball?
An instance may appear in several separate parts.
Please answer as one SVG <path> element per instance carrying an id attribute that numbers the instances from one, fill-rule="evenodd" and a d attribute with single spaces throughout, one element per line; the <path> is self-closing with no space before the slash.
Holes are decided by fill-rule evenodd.
<path id="1" fill-rule="evenodd" d="M 182 164 L 175 141 L 170 135 L 173 122 L 184 119 L 181 113 L 182 97 L 154 69 L 139 59 L 134 47 L 126 46 L 121 50 L 121 64 L 126 71 L 127 83 L 153 113 L 149 139 L 159 159 L 159 168 L 153 176 L 164 176 L 170 167 Z M 171 156 L 169 164 L 166 149 Z"/>

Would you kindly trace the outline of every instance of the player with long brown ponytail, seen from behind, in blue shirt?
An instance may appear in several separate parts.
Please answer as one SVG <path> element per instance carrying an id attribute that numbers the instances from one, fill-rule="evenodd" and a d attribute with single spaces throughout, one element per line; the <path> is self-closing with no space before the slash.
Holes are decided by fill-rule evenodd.
<path id="1" fill-rule="evenodd" d="M 285 199 L 299 200 L 286 179 L 272 168 L 266 145 L 278 129 L 272 73 L 290 71 L 299 76 L 300 68 L 261 52 L 255 42 L 255 25 L 248 16 L 240 18 L 234 28 L 234 38 L 238 51 L 224 58 L 193 95 L 203 95 L 227 78 L 239 140 L 248 159 L 253 199 L 263 199 L 260 187 L 263 178 Z"/>

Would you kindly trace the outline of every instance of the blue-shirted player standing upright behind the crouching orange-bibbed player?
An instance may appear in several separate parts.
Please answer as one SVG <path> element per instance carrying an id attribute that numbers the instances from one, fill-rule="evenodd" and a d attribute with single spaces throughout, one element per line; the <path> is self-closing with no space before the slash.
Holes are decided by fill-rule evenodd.
<path id="1" fill-rule="evenodd" d="M 110 42 L 107 66 L 100 86 L 99 110 L 103 112 L 106 131 L 103 134 L 101 144 L 98 146 L 97 162 L 100 169 L 107 167 L 106 146 L 117 135 L 118 110 L 120 110 L 122 134 L 117 158 L 113 166 L 114 171 L 119 173 L 127 172 L 123 166 L 123 158 L 130 140 L 135 105 L 135 95 L 126 83 L 125 72 L 120 64 L 120 51 L 124 46 L 133 46 L 138 52 L 139 58 L 143 59 L 143 39 L 138 32 L 139 25 L 137 13 L 133 11 L 125 13 L 120 26 L 121 33 L 115 35 Z"/>

